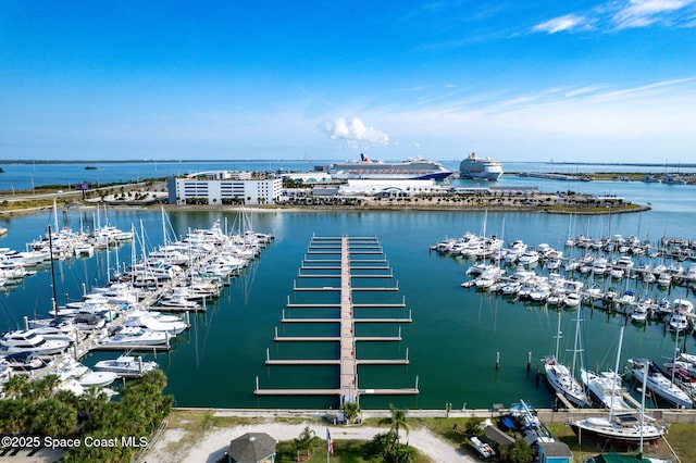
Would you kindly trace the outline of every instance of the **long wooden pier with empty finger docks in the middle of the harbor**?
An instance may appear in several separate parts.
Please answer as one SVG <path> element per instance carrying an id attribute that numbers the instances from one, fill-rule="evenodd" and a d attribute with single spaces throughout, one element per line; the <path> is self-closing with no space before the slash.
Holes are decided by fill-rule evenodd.
<path id="1" fill-rule="evenodd" d="M 316 259 L 312 260 L 316 254 L 336 254 L 340 255 L 340 259 Z M 302 287 L 298 285 L 297 280 L 293 281 L 294 292 L 339 292 L 339 303 L 291 303 L 288 296 L 287 309 L 339 309 L 338 317 L 308 317 L 308 318 L 293 318 L 286 316 L 285 310 L 283 311 L 282 323 L 291 324 L 338 324 L 337 336 L 279 336 L 277 327 L 275 328 L 275 342 L 338 342 L 339 354 L 338 359 L 271 359 L 270 353 L 266 350 L 265 364 L 273 365 L 337 365 L 339 367 L 338 388 L 287 388 L 287 389 L 271 389 L 261 388 L 259 385 L 259 378 L 257 377 L 257 384 L 254 395 L 257 396 L 339 396 L 340 402 L 357 402 L 359 396 L 362 393 L 369 395 L 417 395 L 418 377 L 415 378 L 415 386 L 413 388 L 387 388 L 387 389 L 371 389 L 361 387 L 358 381 L 358 366 L 359 365 L 408 365 L 408 349 L 405 359 L 357 359 L 356 356 L 356 343 L 357 342 L 400 342 L 401 328 L 398 328 L 397 336 L 356 336 L 357 323 L 411 323 L 411 313 L 408 317 L 356 317 L 355 309 L 401 309 L 405 310 L 406 301 L 401 303 L 360 303 L 356 304 L 352 301 L 353 291 L 398 291 L 398 285 L 394 287 L 353 287 L 351 284 L 352 278 L 393 278 L 391 270 L 388 265 L 384 265 L 386 259 L 353 259 L 351 255 L 359 254 L 383 254 L 382 247 L 376 242 L 376 238 L 361 238 L 361 237 L 333 237 L 333 238 L 318 238 L 313 237 L 310 248 L 308 249 L 304 261 L 299 270 L 300 278 L 339 278 L 338 285 L 335 286 L 322 286 L 322 287 Z M 339 266 L 326 265 L 328 263 L 336 263 Z M 360 265 L 352 265 L 360 263 Z M 368 265 L 368 264 L 377 265 Z M 331 271 L 340 272 L 332 274 L 307 274 L 302 271 Z M 373 275 L 365 274 L 352 274 L 351 272 L 364 272 L 372 271 Z M 388 271 L 388 274 L 380 274 L 377 271 Z"/>

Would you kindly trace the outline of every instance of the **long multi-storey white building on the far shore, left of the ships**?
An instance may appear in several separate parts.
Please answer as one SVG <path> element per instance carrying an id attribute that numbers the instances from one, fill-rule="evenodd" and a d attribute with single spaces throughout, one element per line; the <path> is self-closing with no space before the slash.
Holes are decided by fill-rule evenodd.
<path id="1" fill-rule="evenodd" d="M 170 178 L 170 204 L 275 204 L 283 190 L 281 178 L 263 180 Z"/>

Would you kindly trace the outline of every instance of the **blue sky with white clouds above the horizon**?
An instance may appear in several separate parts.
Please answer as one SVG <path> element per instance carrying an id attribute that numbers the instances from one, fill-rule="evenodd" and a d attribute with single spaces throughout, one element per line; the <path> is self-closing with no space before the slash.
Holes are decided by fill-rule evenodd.
<path id="1" fill-rule="evenodd" d="M 361 151 L 696 162 L 696 0 L 0 0 L 0 160 Z"/>

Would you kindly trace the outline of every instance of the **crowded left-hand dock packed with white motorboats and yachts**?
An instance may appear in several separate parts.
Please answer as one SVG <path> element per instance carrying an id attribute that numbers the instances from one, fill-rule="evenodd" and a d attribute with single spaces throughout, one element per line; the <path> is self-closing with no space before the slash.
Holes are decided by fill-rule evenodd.
<path id="1" fill-rule="evenodd" d="M 53 209 L 53 214 L 57 216 L 55 207 Z M 123 234 L 115 227 L 110 227 L 110 230 L 112 236 L 123 236 L 128 240 L 139 238 L 140 242 L 145 242 L 144 233 L 138 237 L 135 233 Z M 82 232 L 73 235 L 67 226 L 63 227 L 61 233 L 63 234 L 61 238 L 66 243 L 53 240 L 51 226 L 48 226 L 46 241 L 49 248 L 47 255 L 50 256 L 51 277 L 54 277 L 54 261 L 60 262 L 70 259 L 71 255 L 73 258 L 80 256 L 79 253 L 59 253 L 57 249 L 73 249 L 79 243 L 89 242 L 97 236 Z M 115 235 L 116 233 L 119 235 Z M 70 239 L 64 237 L 70 237 Z M 89 373 L 94 377 L 111 378 L 104 384 L 80 381 L 80 385 L 85 387 L 108 386 L 113 383 L 113 378 L 116 376 L 123 378 L 141 376 L 144 372 L 157 367 L 158 364 L 151 361 L 144 362 L 142 356 L 138 356 L 136 360 L 135 356 L 128 354 L 151 352 L 157 355 L 157 352 L 170 351 L 175 345 L 177 335 L 189 329 L 190 314 L 206 311 L 206 296 L 211 299 L 220 296 L 220 288 L 223 284 L 216 277 L 201 277 L 201 270 L 207 268 L 214 259 L 219 259 L 219 254 L 237 253 L 254 258 L 258 255 L 259 249 L 271 239 L 272 237 L 269 235 L 256 234 L 250 230 L 243 232 L 243 235 L 223 234 L 220 223 L 214 223 L 208 229 L 191 230 L 184 240 L 167 245 L 181 246 L 182 249 L 187 247 L 187 259 L 181 262 L 186 265 L 179 267 L 175 264 L 167 264 L 170 272 L 149 275 L 148 280 L 152 281 L 152 285 L 148 285 L 147 290 L 139 289 L 136 285 L 138 272 L 140 270 L 147 272 L 147 268 L 153 265 L 152 259 L 156 253 L 148 255 L 144 251 L 142 259 L 136 262 L 134 247 L 129 268 L 124 266 L 123 272 L 117 270 L 112 272 L 108 265 L 105 286 L 95 287 L 92 288 L 94 292 L 87 293 L 86 286 L 83 284 L 84 300 L 80 302 L 69 301 L 64 306 L 57 305 L 57 295 L 53 292 L 52 305 L 54 309 L 49 311 L 52 318 L 34 317 L 29 321 L 25 315 L 24 329 L 3 334 L 0 339 L 2 345 L 0 353 L 3 354 L 0 356 L 2 381 L 9 380 L 12 375 L 21 372 L 17 366 L 10 364 L 9 358 L 5 356 L 18 353 L 26 354 L 37 361 L 41 360 L 41 363 L 32 370 L 32 377 L 38 378 L 58 372 L 61 387 L 71 387 L 67 380 L 73 376 L 82 376 L 83 373 L 85 375 Z M 116 239 L 115 243 L 120 241 Z M 109 260 L 110 242 L 111 240 L 107 240 L 104 247 L 107 261 Z M 253 250 L 253 252 L 247 252 L 249 250 Z M 163 263 L 161 261 L 157 263 L 161 268 Z M 51 287 L 54 289 L 54 281 Z M 202 288 L 206 289 L 200 293 Z M 175 293 L 178 293 L 183 301 L 181 305 L 158 305 Z M 202 302 L 188 304 L 187 297 L 192 299 L 200 297 Z M 156 306 L 167 312 L 176 312 L 177 309 L 185 311 L 185 317 L 162 314 L 156 310 Z M 88 366 L 78 362 L 97 351 L 122 351 L 124 354 L 116 359 L 98 361 L 95 367 L 103 373 L 91 373 Z M 71 371 L 79 366 L 79 375 L 61 373 L 67 367 L 66 365 Z M 83 390 L 79 389 L 78 392 L 83 393 Z"/>

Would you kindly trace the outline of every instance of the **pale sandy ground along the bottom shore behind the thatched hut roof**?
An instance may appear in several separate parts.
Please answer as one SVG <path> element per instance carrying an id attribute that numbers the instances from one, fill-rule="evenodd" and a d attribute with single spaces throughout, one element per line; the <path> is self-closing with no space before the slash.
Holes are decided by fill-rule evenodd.
<path id="1" fill-rule="evenodd" d="M 227 446 L 246 433 L 266 433 L 276 440 L 291 440 L 297 438 L 306 426 L 310 426 L 315 435 L 326 438 L 326 426 L 316 423 L 284 424 L 270 421 L 269 423 L 234 426 L 225 429 L 213 429 L 206 434 L 202 440 L 190 445 L 181 445 L 185 440 L 185 431 L 181 428 L 165 428 L 151 445 L 138 462 L 190 462 L 213 463 L 225 456 Z M 376 434 L 385 433 L 385 428 L 376 427 L 344 427 L 328 426 L 334 440 L 359 439 L 371 440 Z M 462 453 L 460 449 L 439 439 L 427 429 L 411 429 L 408 437 L 401 433 L 401 441 L 415 447 L 420 452 L 428 455 L 435 462 L 475 462 L 475 458 Z M 464 450 L 468 452 L 468 450 Z"/>

